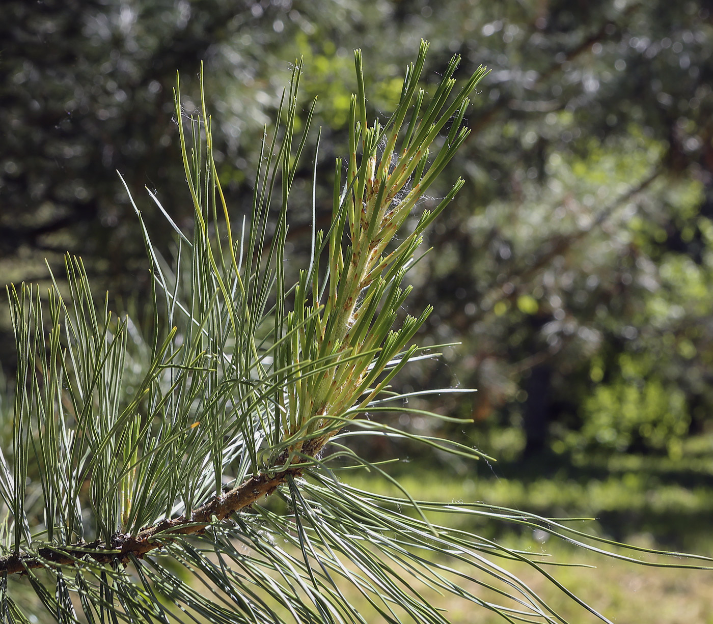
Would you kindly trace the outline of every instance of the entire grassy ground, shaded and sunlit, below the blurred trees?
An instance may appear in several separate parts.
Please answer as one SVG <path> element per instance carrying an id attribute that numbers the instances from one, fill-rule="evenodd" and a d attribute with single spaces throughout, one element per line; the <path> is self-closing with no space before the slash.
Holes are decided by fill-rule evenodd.
<path id="1" fill-rule="evenodd" d="M 453 465 L 453 469 L 402 465 L 397 470 L 401 472 L 399 481 L 419 499 L 485 501 L 544 516 L 589 516 L 596 520 L 578 528 L 639 546 L 713 555 L 713 438 L 690 440 L 683 457 L 676 461 L 631 454 L 580 454 L 525 464 L 518 462 L 511 449 L 503 444 L 498 454 L 504 459 L 497 464 Z M 391 485 L 363 473 L 349 480 L 361 489 L 396 493 Z M 595 566 L 553 568 L 550 572 L 617 623 L 713 623 L 713 571 L 617 561 L 556 539 L 540 543 L 535 538 L 541 536 L 531 531 L 488 525 L 464 528 L 508 546 L 542 552 L 561 563 Z M 525 564 L 508 562 L 506 568 L 566 620 L 599 621 Z M 431 593 L 431 600 L 448 609 L 453 623 L 503 621 L 455 598 Z"/>

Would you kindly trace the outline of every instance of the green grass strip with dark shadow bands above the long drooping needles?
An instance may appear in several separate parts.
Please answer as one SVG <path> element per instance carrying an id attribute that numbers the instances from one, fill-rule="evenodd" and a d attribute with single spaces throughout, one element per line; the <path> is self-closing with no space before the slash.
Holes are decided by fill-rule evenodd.
<path id="1" fill-rule="evenodd" d="M 663 548 L 713 551 L 710 435 L 690 438 L 675 461 L 653 454 L 579 454 L 550 457 L 543 464 L 518 461 L 518 432 L 503 430 L 493 438 L 496 444 L 487 451 L 504 456 L 502 462 L 471 462 L 456 472 L 416 461 L 395 464 L 393 472 L 419 499 L 484 501 L 543 516 L 588 517 L 594 520 L 581 529 L 619 541 L 649 535 Z M 343 478 L 361 489 L 396 494 L 394 486 L 366 472 Z M 470 520 L 459 521 L 464 529 L 473 529 L 467 525 Z"/>

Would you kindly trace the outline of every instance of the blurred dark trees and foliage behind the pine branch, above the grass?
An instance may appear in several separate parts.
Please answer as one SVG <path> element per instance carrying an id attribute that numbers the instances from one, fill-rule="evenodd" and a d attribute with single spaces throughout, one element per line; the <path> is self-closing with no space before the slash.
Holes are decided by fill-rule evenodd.
<path id="1" fill-rule="evenodd" d="M 304 57 L 305 107 L 319 96 L 323 226 L 334 157 L 347 153 L 353 49 L 364 49 L 373 115 L 386 118 L 426 38 L 434 84 L 453 53 L 463 75 L 480 64 L 491 73 L 450 168 L 466 187 L 409 274 L 410 309 L 436 308 L 422 342 L 461 344 L 401 383 L 478 388 L 436 410 L 473 418 L 463 435 L 501 454 L 499 474 L 527 479 L 533 461 L 550 476 L 612 470 L 627 452 L 684 466 L 682 487 L 713 488 L 699 461 L 713 436 L 712 11 L 710 0 L 6 0 L 0 276 L 43 281 L 44 259 L 61 266 L 68 249 L 98 293 L 140 318 L 145 251 L 116 170 L 146 197 L 144 218 L 170 253 L 143 187 L 187 227 L 172 88 L 178 70 L 193 113 L 201 60 L 240 222 L 262 128 Z M 290 217 L 296 256 L 309 247 L 309 160 L 293 192 L 304 205 Z M 648 459 L 636 465 L 621 474 L 651 474 Z M 660 485 L 652 478 L 641 487 Z"/>

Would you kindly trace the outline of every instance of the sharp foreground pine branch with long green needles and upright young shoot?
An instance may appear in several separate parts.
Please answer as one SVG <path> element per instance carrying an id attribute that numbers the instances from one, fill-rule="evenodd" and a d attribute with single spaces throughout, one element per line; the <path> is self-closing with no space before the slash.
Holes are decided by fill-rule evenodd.
<path id="1" fill-rule="evenodd" d="M 444 514 L 593 549 L 612 543 L 521 511 L 382 496 L 344 479 L 354 469 L 391 479 L 354 452 L 356 436 L 409 437 L 481 457 L 380 418 L 436 391 L 390 390 L 404 365 L 433 355 L 411 343 L 429 308 L 402 318 L 409 287 L 401 284 L 421 234 L 461 187 L 458 180 L 434 209 L 421 209 L 468 135 L 468 97 L 486 74 L 479 68 L 454 89 L 456 56 L 427 96 L 418 88 L 427 47 L 383 125 L 366 118 L 356 52 L 349 154 L 335 164 L 332 222 L 326 232 L 315 228 L 295 284 L 285 272 L 289 193 L 314 110 L 297 136 L 301 63 L 281 125 L 263 142 L 252 215 L 240 224 L 231 224 L 220 187 L 205 98 L 200 116 L 183 123 L 177 90 L 195 226 L 182 232 L 151 194 L 175 230 L 176 252 L 164 259 L 143 227 L 150 338 L 93 301 L 81 259 L 66 259 L 66 285 L 52 277 L 47 306 L 33 286 L 9 289 L 19 365 L 14 403 L 4 407 L 11 448 L 0 456 L 3 622 L 374 621 L 347 597 L 349 585 L 388 622 L 448 622 L 419 586 L 508 621 L 563 621 L 506 570 L 526 561 L 558 586 L 542 561 L 450 529 Z"/>

